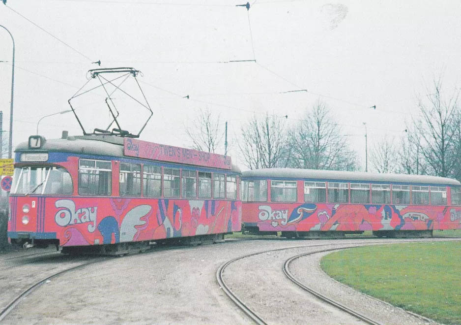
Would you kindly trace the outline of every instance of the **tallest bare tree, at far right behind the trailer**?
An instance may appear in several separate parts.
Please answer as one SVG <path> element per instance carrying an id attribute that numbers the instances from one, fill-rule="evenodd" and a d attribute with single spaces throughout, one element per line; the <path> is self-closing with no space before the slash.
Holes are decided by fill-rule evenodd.
<path id="1" fill-rule="evenodd" d="M 434 79 L 432 89 L 427 87 L 427 90 L 432 94 L 427 96 L 428 99 L 424 97 L 418 99 L 420 117 L 411 122 L 414 135 L 408 138 L 409 143 L 421 151 L 421 157 L 426 164 L 426 173 L 450 177 L 458 174 L 454 171 L 454 167 L 460 159 L 460 152 L 456 152 L 460 122 L 458 107 L 460 91 L 455 91 L 446 100 L 442 95 L 440 77 L 438 80 Z"/>

